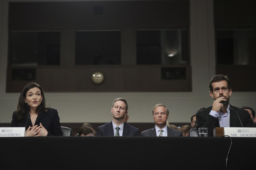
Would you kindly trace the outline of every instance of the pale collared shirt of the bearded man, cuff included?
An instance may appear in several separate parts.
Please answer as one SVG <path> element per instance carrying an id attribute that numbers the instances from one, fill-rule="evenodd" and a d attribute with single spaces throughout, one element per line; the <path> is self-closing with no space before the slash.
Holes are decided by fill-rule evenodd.
<path id="1" fill-rule="evenodd" d="M 219 127 L 230 127 L 229 122 L 230 122 L 230 110 L 229 110 L 229 105 L 227 106 L 227 112 L 224 114 L 221 111 L 219 113 L 215 111 L 210 112 L 211 116 L 218 117 L 219 119 Z"/>

